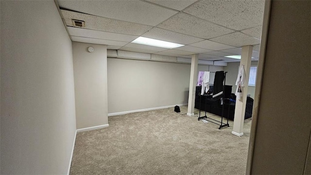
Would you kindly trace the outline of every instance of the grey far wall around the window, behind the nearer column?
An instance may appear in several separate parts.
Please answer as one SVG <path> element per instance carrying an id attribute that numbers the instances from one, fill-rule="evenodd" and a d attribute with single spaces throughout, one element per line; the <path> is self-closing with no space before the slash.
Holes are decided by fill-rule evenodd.
<path id="1" fill-rule="evenodd" d="M 258 61 L 251 62 L 251 66 L 257 66 L 257 65 L 258 65 Z M 228 63 L 228 65 L 224 67 L 224 70 L 228 72 L 226 75 L 226 84 L 232 85 L 232 93 L 235 93 L 237 89 L 235 82 L 237 81 L 239 66 L 240 66 L 240 62 L 232 62 L 232 63 Z M 255 98 L 255 87 L 249 86 L 247 94 L 250 94 L 251 97 L 254 99 Z"/>

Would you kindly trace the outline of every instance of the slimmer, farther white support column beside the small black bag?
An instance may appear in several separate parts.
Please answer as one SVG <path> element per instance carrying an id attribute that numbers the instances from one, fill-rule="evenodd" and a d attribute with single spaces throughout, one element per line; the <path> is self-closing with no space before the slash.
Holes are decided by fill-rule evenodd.
<path id="1" fill-rule="evenodd" d="M 190 83 L 189 83 L 189 99 L 188 99 L 188 113 L 189 116 L 194 116 L 194 101 L 195 101 L 195 86 L 197 83 L 199 55 L 193 54 L 191 57 Z"/>

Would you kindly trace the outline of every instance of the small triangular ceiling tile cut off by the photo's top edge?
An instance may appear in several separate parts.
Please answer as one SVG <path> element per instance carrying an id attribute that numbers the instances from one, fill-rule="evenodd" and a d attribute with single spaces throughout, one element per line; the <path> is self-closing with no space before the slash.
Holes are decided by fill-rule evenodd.
<path id="1" fill-rule="evenodd" d="M 174 10 L 181 11 L 197 0 L 147 0 Z"/>

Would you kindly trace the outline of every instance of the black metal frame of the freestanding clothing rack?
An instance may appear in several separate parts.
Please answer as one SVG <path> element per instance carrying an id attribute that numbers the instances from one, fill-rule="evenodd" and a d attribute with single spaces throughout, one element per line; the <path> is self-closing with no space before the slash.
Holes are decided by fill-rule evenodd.
<path id="1" fill-rule="evenodd" d="M 226 71 L 224 72 L 224 74 L 226 75 Z M 203 87 L 202 87 L 203 88 Z M 219 125 L 219 128 L 218 129 L 222 129 L 224 127 L 229 127 L 229 123 L 228 123 L 228 118 L 229 118 L 229 108 L 230 108 L 230 100 L 229 99 L 225 99 L 225 79 L 224 79 L 224 85 L 223 85 L 223 94 L 222 94 L 222 99 L 223 99 L 223 106 L 222 106 L 222 118 L 221 118 L 221 121 L 218 121 L 218 120 L 215 120 L 215 119 L 212 119 L 210 117 L 207 117 L 206 115 L 206 111 L 205 111 L 205 116 L 201 117 L 201 97 L 202 96 L 206 96 L 206 98 L 208 98 L 208 95 L 201 95 L 200 94 L 200 113 L 199 113 L 199 117 L 198 117 L 198 121 L 200 121 L 201 119 L 205 119 L 207 120 L 208 122 L 211 122 L 211 123 L 214 123 L 214 124 L 217 124 Z M 218 99 L 217 99 L 218 100 Z M 227 116 L 227 123 L 224 123 L 223 122 L 223 118 L 224 118 L 224 107 L 225 107 L 225 101 L 228 101 L 228 116 Z"/>

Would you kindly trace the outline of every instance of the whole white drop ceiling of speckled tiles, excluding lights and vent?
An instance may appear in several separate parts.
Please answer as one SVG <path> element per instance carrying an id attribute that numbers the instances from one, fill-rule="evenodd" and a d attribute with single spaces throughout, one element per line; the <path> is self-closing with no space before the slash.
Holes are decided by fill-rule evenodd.
<path id="1" fill-rule="evenodd" d="M 72 41 L 107 49 L 237 62 L 252 45 L 258 60 L 264 0 L 57 0 Z M 73 26 L 72 19 L 85 21 Z M 165 49 L 131 43 L 139 36 L 185 46 Z"/>

